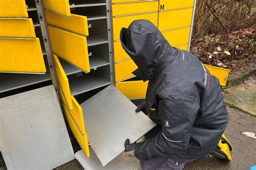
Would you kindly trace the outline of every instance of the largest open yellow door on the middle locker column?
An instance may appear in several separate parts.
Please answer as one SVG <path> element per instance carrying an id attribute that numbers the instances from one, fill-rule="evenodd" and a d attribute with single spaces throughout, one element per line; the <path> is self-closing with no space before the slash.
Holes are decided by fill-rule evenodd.
<path id="1" fill-rule="evenodd" d="M 90 72 L 86 37 L 48 26 L 53 53 Z"/>

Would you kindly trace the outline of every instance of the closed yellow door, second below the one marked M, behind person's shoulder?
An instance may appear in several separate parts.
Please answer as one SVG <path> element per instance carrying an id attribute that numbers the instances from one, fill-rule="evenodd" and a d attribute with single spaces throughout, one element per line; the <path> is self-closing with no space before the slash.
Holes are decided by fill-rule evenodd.
<path id="1" fill-rule="evenodd" d="M 190 40 L 190 27 L 184 29 L 172 30 L 162 33 L 171 46 L 187 44 Z"/>

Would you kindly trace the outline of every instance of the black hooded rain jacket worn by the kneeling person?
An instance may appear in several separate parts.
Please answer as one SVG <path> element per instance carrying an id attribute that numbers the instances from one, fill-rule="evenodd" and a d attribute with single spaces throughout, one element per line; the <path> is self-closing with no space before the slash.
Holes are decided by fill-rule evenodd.
<path id="1" fill-rule="evenodd" d="M 173 48 L 148 20 L 120 33 L 122 47 L 138 66 L 133 74 L 149 80 L 149 117 L 162 125 L 157 136 L 138 143 L 138 159 L 199 159 L 211 153 L 227 127 L 219 80 L 199 59 Z"/>

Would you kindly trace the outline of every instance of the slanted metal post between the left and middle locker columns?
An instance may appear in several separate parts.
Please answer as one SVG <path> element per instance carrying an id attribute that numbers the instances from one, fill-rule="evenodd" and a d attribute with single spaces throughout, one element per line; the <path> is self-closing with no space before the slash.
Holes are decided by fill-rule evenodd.
<path id="1" fill-rule="evenodd" d="M 58 100 L 60 101 L 59 89 L 58 89 L 58 83 L 57 83 L 57 73 L 56 73 L 56 70 L 55 70 L 55 63 L 53 62 L 51 41 L 50 41 L 50 36 L 49 36 L 47 24 L 46 24 L 46 17 L 45 17 L 45 13 L 44 13 L 44 5 L 43 5 L 42 0 L 35 0 L 35 1 L 36 1 L 36 8 L 37 8 L 39 22 L 40 22 L 40 25 L 41 25 L 41 31 L 42 31 L 42 34 L 43 34 L 45 52 L 46 52 L 48 65 L 49 65 L 49 69 L 50 69 L 51 80 L 52 80 L 52 84 L 55 87 L 55 90 L 58 94 L 57 95 Z"/>

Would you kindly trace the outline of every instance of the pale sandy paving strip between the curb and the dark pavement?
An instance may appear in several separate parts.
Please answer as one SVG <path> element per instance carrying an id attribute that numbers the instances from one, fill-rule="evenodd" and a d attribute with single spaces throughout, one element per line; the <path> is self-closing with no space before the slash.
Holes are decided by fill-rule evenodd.
<path id="1" fill-rule="evenodd" d="M 250 77 L 239 86 L 224 90 L 224 100 L 231 107 L 256 116 L 256 76 Z"/>

